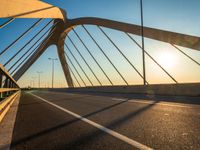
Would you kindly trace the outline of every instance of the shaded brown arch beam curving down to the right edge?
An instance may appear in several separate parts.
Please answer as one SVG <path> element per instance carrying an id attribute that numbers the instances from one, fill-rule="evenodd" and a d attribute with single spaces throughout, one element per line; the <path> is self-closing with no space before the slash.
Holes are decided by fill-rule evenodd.
<path id="1" fill-rule="evenodd" d="M 67 20 L 68 28 L 82 24 L 103 26 L 142 36 L 139 25 L 92 17 Z M 197 36 L 144 27 L 144 37 L 200 51 L 200 37 Z"/>

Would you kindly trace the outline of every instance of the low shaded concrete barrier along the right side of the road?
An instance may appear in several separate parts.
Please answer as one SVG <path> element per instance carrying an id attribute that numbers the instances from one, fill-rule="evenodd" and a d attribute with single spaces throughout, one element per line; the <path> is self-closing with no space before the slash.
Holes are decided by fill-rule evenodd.
<path id="1" fill-rule="evenodd" d="M 75 92 L 104 92 L 104 93 L 127 93 L 127 94 L 150 94 L 150 95 L 173 95 L 173 96 L 200 96 L 200 83 L 189 84 L 154 84 L 132 86 L 99 86 L 84 88 L 60 89 Z"/>

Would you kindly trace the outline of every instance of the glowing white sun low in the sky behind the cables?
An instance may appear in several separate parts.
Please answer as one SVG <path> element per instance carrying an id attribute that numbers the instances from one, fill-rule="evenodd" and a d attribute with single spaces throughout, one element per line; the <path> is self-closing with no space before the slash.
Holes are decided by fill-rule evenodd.
<path id="1" fill-rule="evenodd" d="M 173 68 L 176 63 L 175 56 L 170 52 L 162 52 L 158 54 L 158 62 L 164 68 Z"/>

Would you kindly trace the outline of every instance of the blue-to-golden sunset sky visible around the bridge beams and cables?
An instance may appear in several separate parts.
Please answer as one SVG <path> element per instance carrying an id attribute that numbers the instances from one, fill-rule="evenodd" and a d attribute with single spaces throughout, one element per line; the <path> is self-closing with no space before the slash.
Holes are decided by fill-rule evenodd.
<path id="1" fill-rule="evenodd" d="M 55 5 L 64 9 L 67 12 L 67 18 L 79 18 L 79 17 L 100 17 L 131 24 L 140 25 L 140 3 L 139 0 L 44 0 L 49 4 Z M 200 1 L 199 0 L 143 0 L 144 11 L 144 26 L 168 30 L 173 32 L 179 32 L 183 34 L 200 36 Z M 5 22 L 6 19 L 0 19 L 0 23 Z M 9 43 L 15 40 L 20 34 L 22 34 L 28 27 L 30 27 L 37 19 L 16 19 L 5 28 L 0 29 L 0 51 L 2 51 Z M 47 23 L 49 19 L 45 19 L 40 23 L 37 28 L 34 28 L 25 38 L 21 39 L 19 43 L 9 49 L 7 53 L 0 56 L 0 63 L 4 64 L 12 55 L 19 50 L 23 44 L 34 33 L 39 31 L 41 27 Z M 49 25 L 50 27 L 51 25 Z M 131 66 L 125 61 L 125 59 L 117 52 L 113 45 L 105 38 L 105 36 L 99 31 L 96 26 L 86 25 L 86 28 L 91 34 L 98 39 L 100 46 L 105 50 L 106 54 L 111 58 L 111 61 L 122 72 L 125 79 L 130 85 L 142 84 L 142 79 L 131 68 Z M 141 50 L 122 32 L 103 28 L 105 32 L 112 38 L 116 45 L 123 50 L 126 57 L 135 65 L 135 67 L 142 73 L 142 53 Z M 103 54 L 99 51 L 96 45 L 84 32 L 80 26 L 75 30 L 82 37 L 88 48 L 94 54 L 98 62 L 101 63 L 102 68 L 111 78 L 115 85 L 124 85 L 125 83 L 117 74 L 116 70 L 106 60 Z M 12 36 L 10 36 L 12 35 Z M 81 50 L 81 54 L 86 58 L 87 62 L 98 75 L 99 79 L 104 85 L 109 85 L 105 75 L 96 65 L 94 60 L 89 56 L 83 45 L 77 39 L 73 32 L 69 33 L 69 36 L 73 39 L 76 46 Z M 141 44 L 141 37 L 131 35 L 134 39 Z M 36 41 L 37 39 L 35 39 Z M 95 85 L 98 85 L 97 80 L 81 59 L 76 49 L 66 39 L 67 45 L 73 52 L 77 60 L 80 62 L 84 70 L 87 72 L 89 78 Z M 30 45 L 31 46 L 31 45 Z M 27 46 L 27 47 L 30 47 Z M 36 47 L 36 45 L 35 45 Z M 181 48 L 185 53 L 193 57 L 196 61 L 200 62 L 200 52 L 188 48 Z M 28 48 L 27 48 L 28 49 Z M 145 38 L 145 49 L 152 57 L 154 57 L 179 83 L 191 83 L 200 81 L 200 66 L 189 60 L 179 51 L 174 49 L 168 43 L 159 42 Z M 69 51 L 65 49 L 68 56 L 71 58 L 73 64 L 78 68 L 81 76 L 86 82 L 87 86 L 90 86 L 87 77 L 81 72 L 78 64 L 70 55 Z M 26 49 L 23 51 L 25 52 Z M 17 58 L 23 53 L 19 54 Z M 50 46 L 43 55 L 28 69 L 28 71 L 18 81 L 21 87 L 25 86 L 38 86 L 38 74 L 37 71 L 42 71 L 41 74 L 41 86 L 51 86 L 51 62 L 49 57 L 58 58 L 56 46 Z M 14 59 L 6 68 L 8 69 L 12 64 L 16 62 Z M 167 76 L 151 59 L 146 58 L 146 74 L 147 81 L 151 84 L 160 83 L 173 83 L 173 81 Z M 73 72 L 73 66 L 68 61 L 70 68 Z M 78 75 L 76 74 L 77 78 Z M 78 83 L 75 81 L 75 85 Z M 83 86 L 81 79 L 80 84 Z M 65 77 L 59 61 L 55 62 L 55 87 L 66 87 Z"/>

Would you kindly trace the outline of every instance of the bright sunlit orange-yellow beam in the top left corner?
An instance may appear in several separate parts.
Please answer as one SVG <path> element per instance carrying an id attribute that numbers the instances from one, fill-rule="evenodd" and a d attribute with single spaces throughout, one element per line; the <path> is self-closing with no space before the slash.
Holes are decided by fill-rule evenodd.
<path id="1" fill-rule="evenodd" d="M 60 18 L 64 11 L 38 0 L 1 0 L 0 18 Z"/>

